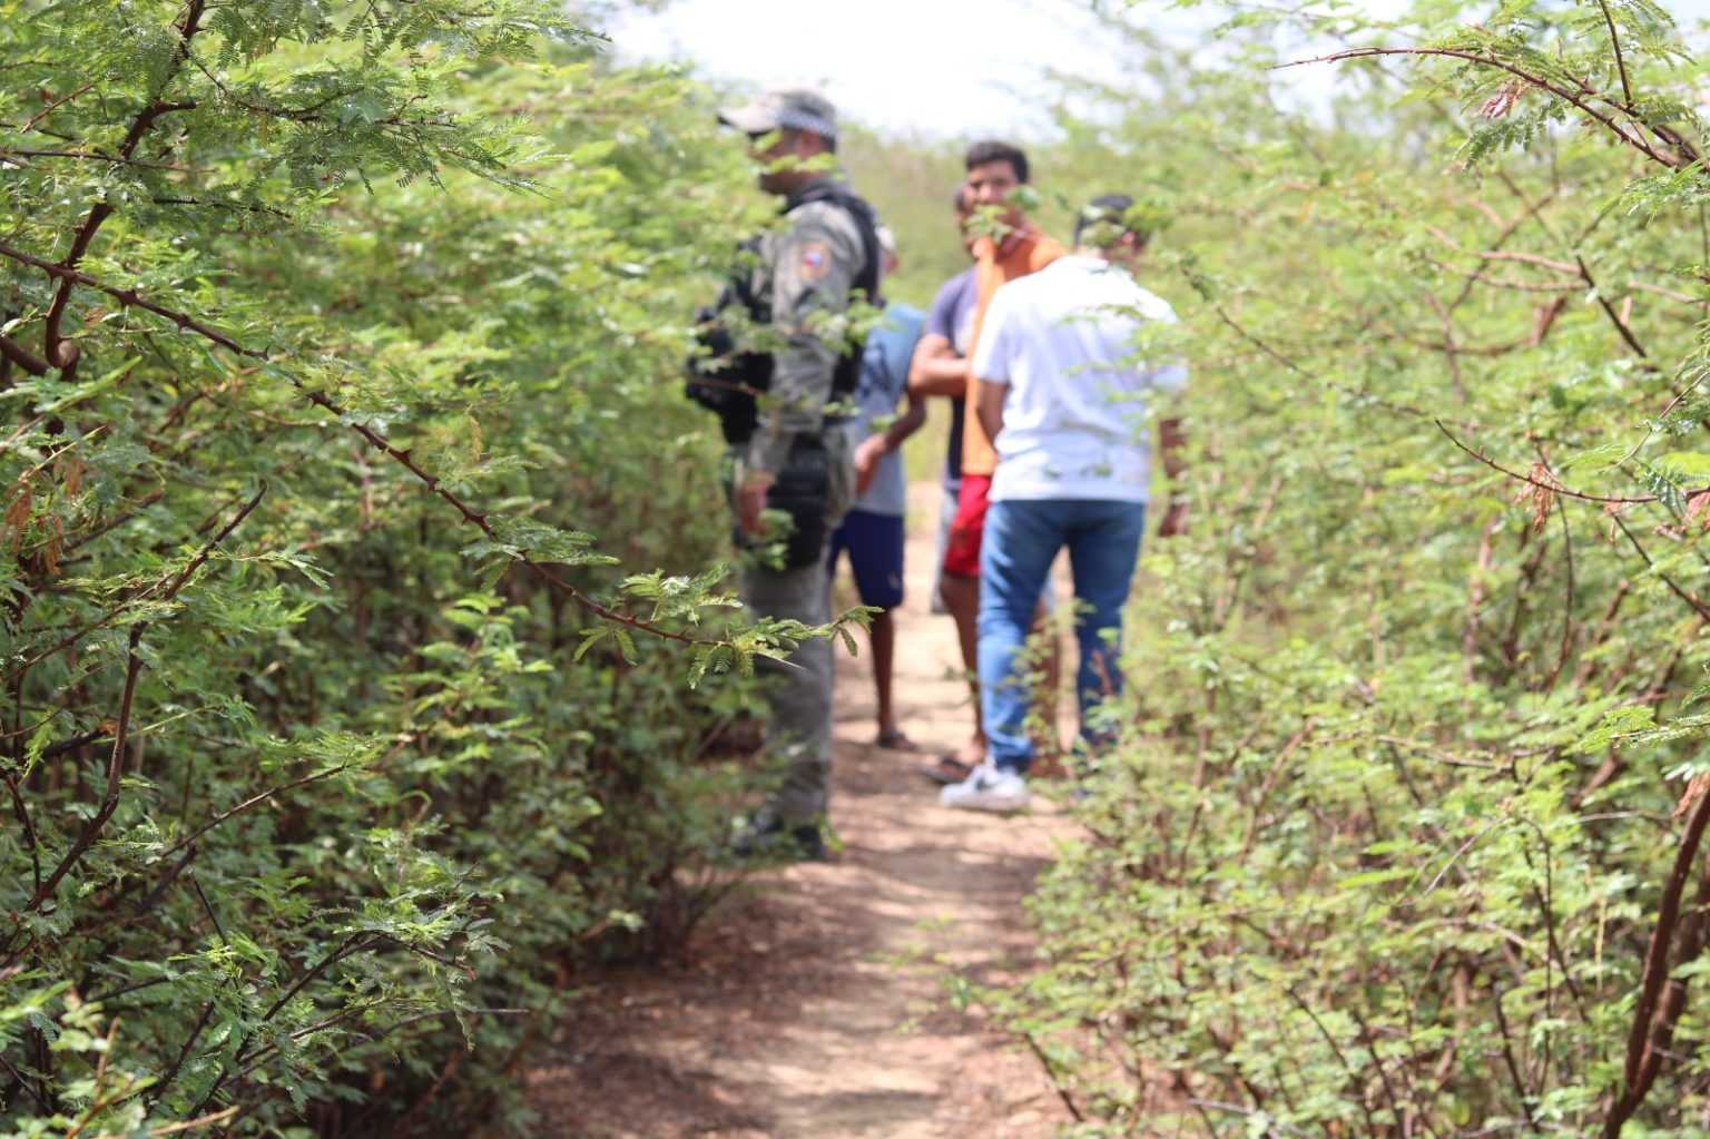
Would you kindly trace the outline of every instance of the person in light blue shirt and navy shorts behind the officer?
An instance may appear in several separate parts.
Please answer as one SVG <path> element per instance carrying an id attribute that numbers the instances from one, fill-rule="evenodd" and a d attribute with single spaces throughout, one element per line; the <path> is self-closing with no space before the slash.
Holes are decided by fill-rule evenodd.
<path id="1" fill-rule="evenodd" d="M 896 243 L 891 231 L 879 226 L 884 251 L 884 275 L 896 272 Z M 887 304 L 884 318 L 867 335 L 860 380 L 855 385 L 855 505 L 843 525 L 831 535 L 828 573 L 848 551 L 855 575 L 855 592 L 862 605 L 872 605 L 872 679 L 877 689 L 879 747 L 910 749 L 913 744 L 896 723 L 891 703 L 891 670 L 896 658 L 896 623 L 891 611 L 903 604 L 903 513 L 908 482 L 903 474 L 903 440 L 927 421 L 927 405 L 910 397 L 908 412 L 896 409 L 908 393 L 908 364 L 920 339 L 922 313 L 910 304 Z"/>

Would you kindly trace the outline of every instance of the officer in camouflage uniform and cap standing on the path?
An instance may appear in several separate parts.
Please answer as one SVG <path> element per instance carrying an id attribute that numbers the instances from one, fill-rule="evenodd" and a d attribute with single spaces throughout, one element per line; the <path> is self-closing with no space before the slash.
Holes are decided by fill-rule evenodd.
<path id="1" fill-rule="evenodd" d="M 770 330 L 771 351 L 737 354 L 740 363 L 725 380 L 715 369 L 711 387 L 691 381 L 691 395 L 720 412 L 740 539 L 776 537 L 766 532 L 763 510 L 792 520 L 783 564 L 744 568 L 744 602 L 759 616 L 823 624 L 829 621 L 826 542 L 855 498 L 855 424 L 836 404 L 855 392 L 860 345 L 846 340 L 838 318 L 853 294 L 877 298 L 876 221 L 865 202 L 821 169 L 824 159 L 811 162 L 834 152 L 838 133 L 836 111 L 817 91 L 770 87 L 718 118 L 749 135 L 752 156 L 766 162 L 759 188 L 783 198 L 787 224 L 747 243 L 752 257 L 720 298 Z M 737 838 L 737 853 L 776 847 L 821 859 L 819 824 L 831 792 L 831 645 L 811 640 L 788 665 L 763 658 L 759 667 L 773 674 L 768 749 L 787 771 Z"/>

